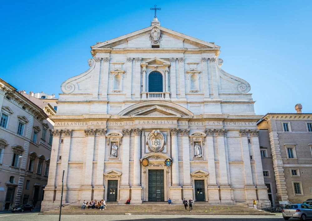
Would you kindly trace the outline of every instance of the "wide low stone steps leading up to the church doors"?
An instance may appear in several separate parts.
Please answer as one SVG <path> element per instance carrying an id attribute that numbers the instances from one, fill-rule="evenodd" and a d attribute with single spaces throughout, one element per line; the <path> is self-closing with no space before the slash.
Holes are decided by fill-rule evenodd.
<path id="1" fill-rule="evenodd" d="M 70 205 L 62 208 L 62 214 L 197 214 L 197 215 L 275 215 L 245 205 L 209 205 L 195 203 L 193 211 L 185 211 L 183 204 L 168 205 L 168 203 L 143 203 L 143 204 L 111 204 L 107 209 L 80 209 L 81 205 Z M 189 208 L 188 208 L 189 209 Z M 53 209 L 39 214 L 59 214 L 60 209 Z"/>

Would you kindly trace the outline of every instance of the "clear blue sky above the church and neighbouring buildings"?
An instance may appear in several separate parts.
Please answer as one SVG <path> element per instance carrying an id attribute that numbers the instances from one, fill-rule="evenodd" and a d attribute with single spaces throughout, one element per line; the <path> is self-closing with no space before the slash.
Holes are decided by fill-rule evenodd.
<path id="1" fill-rule="evenodd" d="M 256 114 L 312 113 L 312 1 L 3 1 L 0 77 L 18 90 L 61 93 L 86 71 L 90 46 L 161 26 L 221 46 L 222 69 L 251 85 Z"/>

